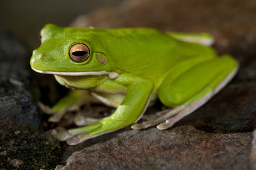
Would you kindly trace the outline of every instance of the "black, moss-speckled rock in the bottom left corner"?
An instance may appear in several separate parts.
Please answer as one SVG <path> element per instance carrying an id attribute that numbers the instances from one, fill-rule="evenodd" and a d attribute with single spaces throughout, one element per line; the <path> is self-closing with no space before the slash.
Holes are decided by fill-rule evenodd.
<path id="1" fill-rule="evenodd" d="M 1 134 L 1 169 L 53 169 L 58 164 L 64 147 L 50 134 L 30 127 L 21 127 L 20 134 L 15 132 Z"/>

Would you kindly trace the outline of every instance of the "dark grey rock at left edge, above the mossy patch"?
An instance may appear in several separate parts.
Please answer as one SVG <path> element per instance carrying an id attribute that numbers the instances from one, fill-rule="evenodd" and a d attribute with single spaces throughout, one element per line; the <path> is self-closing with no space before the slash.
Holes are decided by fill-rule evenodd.
<path id="1" fill-rule="evenodd" d="M 0 132 L 24 124 L 38 128 L 29 86 L 28 50 L 24 43 L 7 33 L 0 33 Z"/>

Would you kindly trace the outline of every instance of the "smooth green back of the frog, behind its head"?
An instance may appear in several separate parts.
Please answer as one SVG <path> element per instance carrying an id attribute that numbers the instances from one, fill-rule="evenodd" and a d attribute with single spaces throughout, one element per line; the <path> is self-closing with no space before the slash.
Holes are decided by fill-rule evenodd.
<path id="1" fill-rule="evenodd" d="M 181 60 L 215 56 L 214 50 L 209 47 L 176 40 L 157 29 L 122 28 L 106 31 L 104 49 L 107 49 L 113 66 L 154 81 L 161 79 Z"/>

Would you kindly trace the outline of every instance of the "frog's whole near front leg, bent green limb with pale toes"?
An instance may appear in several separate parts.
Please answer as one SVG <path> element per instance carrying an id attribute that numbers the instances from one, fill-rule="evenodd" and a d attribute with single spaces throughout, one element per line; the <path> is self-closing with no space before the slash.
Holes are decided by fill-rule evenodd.
<path id="1" fill-rule="evenodd" d="M 127 127 L 140 119 L 150 100 L 153 83 L 132 74 L 122 74 L 115 81 L 127 87 L 125 98 L 116 111 L 98 123 L 60 132 L 58 138 L 61 141 L 67 140 L 68 144 L 75 145 L 98 135 Z"/>

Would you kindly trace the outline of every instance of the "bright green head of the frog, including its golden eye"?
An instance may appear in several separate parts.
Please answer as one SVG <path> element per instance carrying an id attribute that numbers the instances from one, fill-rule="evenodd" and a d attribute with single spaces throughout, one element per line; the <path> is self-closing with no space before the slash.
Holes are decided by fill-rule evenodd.
<path id="1" fill-rule="evenodd" d="M 112 72 L 103 29 L 58 27 L 47 24 L 40 31 L 41 45 L 33 51 L 31 68 L 56 75 L 102 75 Z"/>

